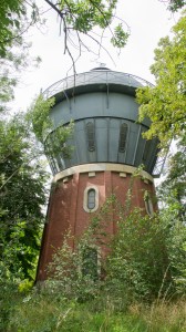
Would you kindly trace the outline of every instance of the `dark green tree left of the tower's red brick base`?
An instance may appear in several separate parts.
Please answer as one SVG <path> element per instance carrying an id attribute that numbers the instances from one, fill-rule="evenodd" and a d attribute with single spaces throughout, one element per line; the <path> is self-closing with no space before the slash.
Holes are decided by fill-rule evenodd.
<path id="1" fill-rule="evenodd" d="M 46 172 L 22 118 L 0 122 L 0 241 L 6 276 L 34 278 Z"/>

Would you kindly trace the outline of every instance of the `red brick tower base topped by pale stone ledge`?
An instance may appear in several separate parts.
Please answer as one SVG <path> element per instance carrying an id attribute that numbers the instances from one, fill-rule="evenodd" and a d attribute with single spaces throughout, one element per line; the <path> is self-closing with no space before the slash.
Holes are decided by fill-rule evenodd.
<path id="1" fill-rule="evenodd" d="M 56 174 L 51 188 L 37 281 L 46 279 L 46 267 L 69 230 L 72 236 L 80 237 L 90 224 L 90 214 L 99 211 L 113 194 L 124 206 L 130 189 L 131 209 L 138 207 L 144 214 L 151 214 L 157 208 L 153 177 L 144 170 L 137 173 L 135 167 L 110 163 L 85 164 Z M 144 198 L 146 194 L 151 197 L 148 203 Z M 107 231 L 111 235 L 116 232 L 114 218 Z"/>

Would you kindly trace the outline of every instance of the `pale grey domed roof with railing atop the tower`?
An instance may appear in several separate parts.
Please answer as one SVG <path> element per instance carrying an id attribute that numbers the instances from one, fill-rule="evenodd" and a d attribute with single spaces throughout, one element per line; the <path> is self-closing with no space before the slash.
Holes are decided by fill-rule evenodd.
<path id="1" fill-rule="evenodd" d="M 128 74 L 112 71 L 105 66 L 94 68 L 89 72 L 75 74 L 58 81 L 48 87 L 43 95 L 49 98 L 55 96 L 55 102 L 61 98 L 82 93 L 110 91 L 135 95 L 140 86 L 152 85 L 149 82 Z"/>

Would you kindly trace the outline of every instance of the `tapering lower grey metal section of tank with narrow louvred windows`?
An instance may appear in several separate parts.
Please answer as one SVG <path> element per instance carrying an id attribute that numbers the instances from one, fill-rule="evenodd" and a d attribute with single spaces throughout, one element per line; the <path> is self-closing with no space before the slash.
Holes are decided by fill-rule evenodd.
<path id="1" fill-rule="evenodd" d="M 90 123 L 94 127 L 94 144 L 91 149 L 86 128 Z M 121 127 L 123 124 L 125 124 L 127 133 L 121 151 Z M 71 158 L 65 159 L 59 155 L 54 159 L 55 169 L 53 173 L 74 165 L 90 163 L 120 163 L 136 167 L 143 163 L 145 169 L 152 172 L 157 144 L 155 141 L 146 143 L 142 137 L 145 129 L 146 127 L 143 125 L 121 118 L 91 117 L 80 120 L 75 122 L 73 137 L 68 142 L 70 146 L 73 146 Z"/>

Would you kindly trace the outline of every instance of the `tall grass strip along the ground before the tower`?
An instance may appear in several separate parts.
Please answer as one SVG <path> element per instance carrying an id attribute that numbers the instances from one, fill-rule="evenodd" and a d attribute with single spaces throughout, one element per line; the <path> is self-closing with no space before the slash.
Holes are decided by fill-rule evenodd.
<path id="1" fill-rule="evenodd" d="M 102 308 L 97 301 L 102 300 Z M 108 299 L 85 303 L 48 295 L 28 297 L 17 304 L 7 332 L 185 332 L 186 301 L 151 305 L 133 303 L 125 311 Z M 105 300 L 105 301 L 104 301 Z"/>

